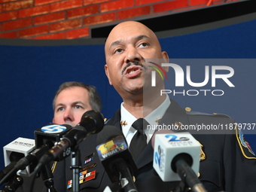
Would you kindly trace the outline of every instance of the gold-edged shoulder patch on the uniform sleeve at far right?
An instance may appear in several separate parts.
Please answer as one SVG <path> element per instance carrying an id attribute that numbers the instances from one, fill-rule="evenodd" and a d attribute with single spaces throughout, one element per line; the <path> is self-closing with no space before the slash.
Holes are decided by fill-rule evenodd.
<path id="1" fill-rule="evenodd" d="M 247 159 L 256 159 L 254 151 L 252 151 L 251 146 L 246 141 L 241 130 L 236 129 L 236 139 L 239 143 L 243 156 Z"/>

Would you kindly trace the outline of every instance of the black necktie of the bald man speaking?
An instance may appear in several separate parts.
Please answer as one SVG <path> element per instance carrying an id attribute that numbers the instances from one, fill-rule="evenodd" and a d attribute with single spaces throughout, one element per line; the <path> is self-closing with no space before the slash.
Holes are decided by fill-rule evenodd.
<path id="1" fill-rule="evenodd" d="M 130 152 L 133 155 L 134 160 L 139 157 L 139 154 L 142 153 L 147 145 L 147 136 L 143 132 L 143 127 L 146 129 L 147 125 L 147 120 L 143 118 L 137 119 L 132 125 L 134 129 L 138 130 L 130 143 Z"/>

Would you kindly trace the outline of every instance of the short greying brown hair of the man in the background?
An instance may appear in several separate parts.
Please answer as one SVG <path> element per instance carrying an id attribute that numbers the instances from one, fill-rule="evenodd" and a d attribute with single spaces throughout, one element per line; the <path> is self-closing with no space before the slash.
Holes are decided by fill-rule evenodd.
<path id="1" fill-rule="evenodd" d="M 101 99 L 100 99 L 99 93 L 96 91 L 96 87 L 92 85 L 87 85 L 81 82 L 77 82 L 77 81 L 65 82 L 59 86 L 59 90 L 57 90 L 53 99 L 53 110 L 55 109 L 56 98 L 59 95 L 59 93 L 62 90 L 65 90 L 66 88 L 69 88 L 69 87 L 84 87 L 86 90 L 88 90 L 89 103 L 90 103 L 90 106 L 93 108 L 93 110 L 99 111 L 99 112 L 102 110 Z"/>

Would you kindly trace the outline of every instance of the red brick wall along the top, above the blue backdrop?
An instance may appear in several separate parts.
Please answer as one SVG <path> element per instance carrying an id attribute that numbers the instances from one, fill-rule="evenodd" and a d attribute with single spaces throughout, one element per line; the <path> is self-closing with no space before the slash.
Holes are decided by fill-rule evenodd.
<path id="1" fill-rule="evenodd" d="M 237 0 L 0 0 L 0 38 L 90 38 L 90 28 Z"/>

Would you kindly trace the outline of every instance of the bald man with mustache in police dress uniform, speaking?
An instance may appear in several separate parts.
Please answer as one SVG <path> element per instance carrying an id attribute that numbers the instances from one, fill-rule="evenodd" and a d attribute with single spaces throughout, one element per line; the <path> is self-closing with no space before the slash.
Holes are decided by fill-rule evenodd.
<path id="1" fill-rule="evenodd" d="M 105 42 L 105 59 L 105 73 L 109 84 L 114 86 L 123 99 L 120 109 L 107 124 L 121 129 L 130 145 L 130 151 L 139 169 L 135 175 L 138 191 L 173 190 L 177 186 L 174 182 L 163 182 L 154 174 L 153 148 L 150 142 L 152 133 L 147 132 L 145 128 L 143 133 L 139 126 L 158 123 L 176 126 L 181 123 L 211 125 L 235 121 L 226 115 L 187 112 L 166 94 L 160 96 L 160 90 L 164 90 L 163 80 L 157 76 L 157 86 L 151 86 L 152 68 L 149 64 L 152 62 L 148 63 L 145 59 L 153 62 L 161 59 L 164 63 L 168 62 L 169 56 L 161 50 L 154 32 L 142 23 L 128 21 L 115 26 Z M 168 71 L 166 67 L 163 69 Z M 255 156 L 248 153 L 247 148 L 240 148 L 236 134 L 201 134 L 194 137 L 202 145 L 202 157 L 198 157 L 199 178 L 206 190 L 255 190 Z"/>

